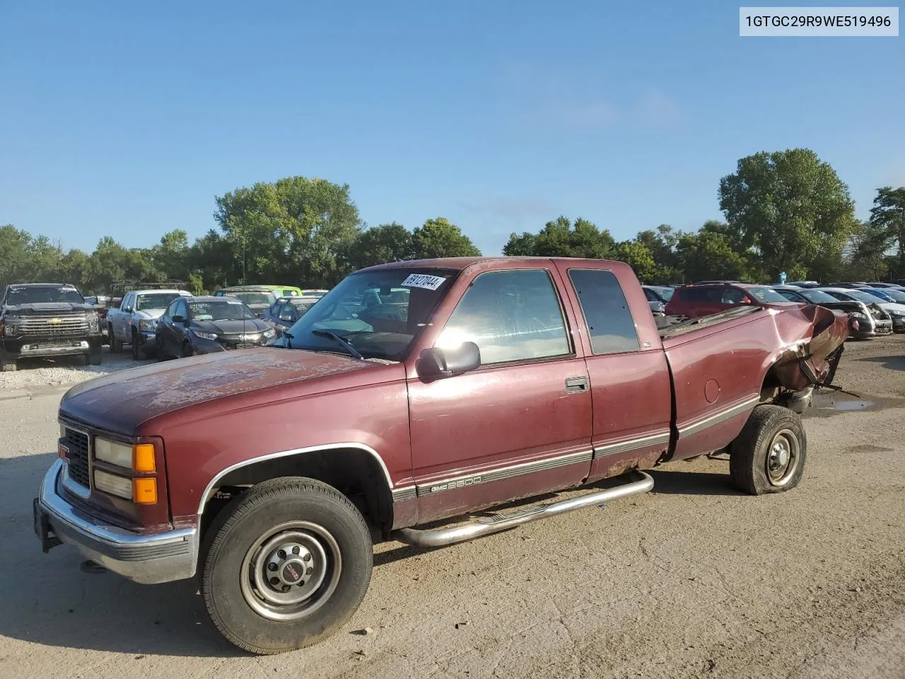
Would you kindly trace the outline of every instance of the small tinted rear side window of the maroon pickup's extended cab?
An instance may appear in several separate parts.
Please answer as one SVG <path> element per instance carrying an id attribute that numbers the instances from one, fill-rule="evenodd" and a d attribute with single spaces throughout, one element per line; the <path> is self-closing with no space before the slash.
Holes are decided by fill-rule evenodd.
<path id="1" fill-rule="evenodd" d="M 618 279 L 605 269 L 569 269 L 595 354 L 640 349 L 638 330 Z"/>

